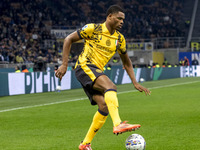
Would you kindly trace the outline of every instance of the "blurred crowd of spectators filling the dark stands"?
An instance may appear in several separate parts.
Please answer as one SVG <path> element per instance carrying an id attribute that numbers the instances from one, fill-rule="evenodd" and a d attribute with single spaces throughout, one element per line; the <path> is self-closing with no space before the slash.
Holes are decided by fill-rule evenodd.
<path id="1" fill-rule="evenodd" d="M 125 10 L 122 33 L 128 39 L 185 36 L 181 20 L 183 0 L 1 0 L 0 61 L 61 63 L 62 47 L 50 34 L 52 28 L 78 29 L 86 23 L 105 21 L 107 8 Z M 182 26 L 183 27 L 183 26 Z M 45 47 L 44 41 L 54 41 Z M 77 55 L 70 56 L 75 62 Z"/>

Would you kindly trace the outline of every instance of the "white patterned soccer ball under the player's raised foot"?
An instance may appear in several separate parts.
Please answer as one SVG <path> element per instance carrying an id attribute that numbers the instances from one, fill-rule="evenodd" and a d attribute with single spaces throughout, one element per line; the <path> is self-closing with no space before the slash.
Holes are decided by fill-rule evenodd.
<path id="1" fill-rule="evenodd" d="M 146 142 L 139 134 L 131 134 L 125 142 L 127 150 L 145 150 Z"/>

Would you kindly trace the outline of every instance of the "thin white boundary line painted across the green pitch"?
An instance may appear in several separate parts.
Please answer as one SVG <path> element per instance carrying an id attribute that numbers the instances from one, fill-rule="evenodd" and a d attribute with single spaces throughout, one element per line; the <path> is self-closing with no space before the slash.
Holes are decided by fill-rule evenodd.
<path id="1" fill-rule="evenodd" d="M 152 88 L 149 88 L 149 89 L 158 89 L 158 88 L 172 87 L 172 86 L 178 86 L 178 85 L 184 85 L 184 84 L 191 84 L 191 83 L 197 83 L 197 82 L 200 82 L 200 81 L 192 81 L 192 82 L 185 82 L 185 83 L 169 84 L 169 85 L 152 87 Z M 118 94 L 124 94 L 124 93 L 130 93 L 130 92 L 137 92 L 137 90 L 118 92 Z M 72 99 L 72 100 L 66 100 L 66 101 L 46 103 L 46 104 L 39 104 L 39 105 L 33 105 L 33 106 L 16 107 L 16 108 L 11 108 L 11 109 L 0 110 L 0 113 L 1 112 L 14 111 L 14 110 L 20 110 L 20 109 L 27 109 L 27 108 L 34 108 L 34 107 L 42 107 L 42 106 L 48 106 L 48 105 L 55 105 L 55 104 L 61 104 L 61 103 L 67 103 L 67 102 L 75 102 L 75 101 L 81 101 L 81 100 L 85 100 L 85 99 L 87 99 L 87 97 L 77 98 L 77 99 Z"/>

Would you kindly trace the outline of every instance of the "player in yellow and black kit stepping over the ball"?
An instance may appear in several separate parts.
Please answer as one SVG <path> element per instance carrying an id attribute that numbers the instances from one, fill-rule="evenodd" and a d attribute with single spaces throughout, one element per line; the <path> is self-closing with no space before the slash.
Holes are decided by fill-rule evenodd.
<path id="1" fill-rule="evenodd" d="M 91 141 L 97 131 L 105 123 L 108 114 L 113 121 L 113 133 L 119 134 L 140 128 L 139 124 L 122 122 L 118 111 L 117 87 L 103 73 L 104 66 L 117 51 L 130 79 L 137 90 L 150 95 L 150 91 L 137 83 L 132 63 L 126 51 L 124 36 L 119 32 L 124 23 L 123 9 L 112 5 L 107 10 L 104 23 L 87 24 L 82 29 L 68 35 L 63 45 L 63 63 L 56 72 L 56 77 L 62 79 L 67 71 L 70 47 L 73 42 L 84 39 L 84 48 L 75 65 L 76 78 L 81 83 L 92 105 L 98 105 L 92 124 L 79 150 L 92 150 Z"/>

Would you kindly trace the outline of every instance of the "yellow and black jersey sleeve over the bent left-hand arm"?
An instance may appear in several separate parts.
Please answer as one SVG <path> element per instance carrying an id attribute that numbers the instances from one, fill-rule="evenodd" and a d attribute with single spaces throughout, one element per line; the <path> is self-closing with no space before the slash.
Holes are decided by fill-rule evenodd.
<path id="1" fill-rule="evenodd" d="M 84 27 L 77 31 L 81 39 L 90 39 L 94 32 L 94 24 L 86 24 Z"/>

